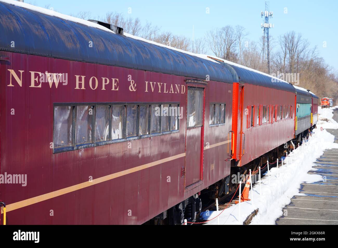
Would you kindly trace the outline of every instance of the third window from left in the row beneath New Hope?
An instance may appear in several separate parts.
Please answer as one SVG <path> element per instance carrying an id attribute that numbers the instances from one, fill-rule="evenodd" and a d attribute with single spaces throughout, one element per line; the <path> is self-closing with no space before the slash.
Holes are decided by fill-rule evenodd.
<path id="1" fill-rule="evenodd" d="M 95 141 L 109 140 L 110 106 L 97 105 L 95 107 Z"/>

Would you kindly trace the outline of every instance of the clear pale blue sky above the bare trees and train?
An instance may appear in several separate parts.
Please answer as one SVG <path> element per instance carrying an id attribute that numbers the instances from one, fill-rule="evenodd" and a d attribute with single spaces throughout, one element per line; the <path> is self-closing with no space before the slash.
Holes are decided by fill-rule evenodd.
<path id="1" fill-rule="evenodd" d="M 265 8 L 261 0 L 169 0 L 169 1 L 108 1 L 108 0 L 25 0 L 26 3 L 45 7 L 50 4 L 55 11 L 70 14 L 79 11 L 91 11 L 93 16 L 104 16 L 107 11 L 118 11 L 126 16 L 140 18 L 161 27 L 162 31 L 192 37 L 204 37 L 213 28 L 225 25 L 241 25 L 249 32 L 248 38 L 259 40 L 262 35 L 260 16 Z M 128 14 L 128 8 L 131 13 Z M 210 13 L 206 13 L 206 8 Z M 287 8 L 287 13 L 284 13 Z M 307 38 L 311 47 L 317 46 L 325 61 L 338 72 L 338 1 L 318 0 L 271 0 L 270 11 L 273 11 L 270 35 L 279 35 L 294 30 Z M 323 47 L 326 42 L 327 47 Z"/>

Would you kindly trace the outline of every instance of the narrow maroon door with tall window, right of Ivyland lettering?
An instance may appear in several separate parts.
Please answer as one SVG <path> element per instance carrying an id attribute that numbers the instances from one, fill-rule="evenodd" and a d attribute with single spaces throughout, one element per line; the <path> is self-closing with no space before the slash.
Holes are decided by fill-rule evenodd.
<path id="1" fill-rule="evenodd" d="M 186 187 L 202 180 L 204 88 L 188 86 L 186 132 Z"/>

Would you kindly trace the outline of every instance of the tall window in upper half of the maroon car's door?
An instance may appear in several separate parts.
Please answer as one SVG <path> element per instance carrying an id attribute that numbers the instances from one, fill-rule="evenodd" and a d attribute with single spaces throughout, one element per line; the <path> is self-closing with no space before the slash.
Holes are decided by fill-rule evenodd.
<path id="1" fill-rule="evenodd" d="M 202 125 L 203 88 L 188 87 L 187 126 Z"/>

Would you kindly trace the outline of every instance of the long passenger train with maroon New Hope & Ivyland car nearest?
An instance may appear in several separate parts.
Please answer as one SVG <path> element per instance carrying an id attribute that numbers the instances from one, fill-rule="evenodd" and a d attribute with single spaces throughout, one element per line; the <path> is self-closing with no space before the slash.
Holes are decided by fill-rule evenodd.
<path id="1" fill-rule="evenodd" d="M 6 224 L 194 222 L 318 119 L 309 90 L 101 21 L 0 0 L 0 33 Z"/>

